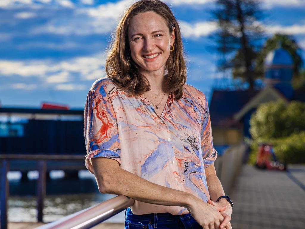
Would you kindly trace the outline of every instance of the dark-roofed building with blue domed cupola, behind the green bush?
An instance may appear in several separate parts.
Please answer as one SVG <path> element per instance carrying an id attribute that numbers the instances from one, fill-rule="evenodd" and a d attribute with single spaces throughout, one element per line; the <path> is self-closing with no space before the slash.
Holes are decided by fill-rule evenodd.
<path id="1" fill-rule="evenodd" d="M 249 120 L 262 103 L 284 100 L 305 102 L 304 90 L 294 90 L 291 85 L 293 61 L 291 55 L 280 47 L 267 54 L 265 62 L 265 87 L 261 90 L 214 90 L 210 101 L 213 143 L 223 151 L 230 145 L 242 143 L 251 137 Z"/>

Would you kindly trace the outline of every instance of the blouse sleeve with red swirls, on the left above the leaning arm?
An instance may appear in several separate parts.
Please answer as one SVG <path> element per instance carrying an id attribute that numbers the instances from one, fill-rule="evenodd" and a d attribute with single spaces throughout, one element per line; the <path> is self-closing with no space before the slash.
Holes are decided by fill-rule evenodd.
<path id="1" fill-rule="evenodd" d="M 87 150 L 85 165 L 91 173 L 91 158 L 106 157 L 121 163 L 116 115 L 109 95 L 105 92 L 103 94 L 105 96 L 90 90 L 84 109 L 84 138 Z"/>

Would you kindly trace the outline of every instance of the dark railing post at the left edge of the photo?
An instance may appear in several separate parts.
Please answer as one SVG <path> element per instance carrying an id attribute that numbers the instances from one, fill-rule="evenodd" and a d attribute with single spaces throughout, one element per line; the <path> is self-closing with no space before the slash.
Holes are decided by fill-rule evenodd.
<path id="1" fill-rule="evenodd" d="M 9 171 L 9 161 L 6 159 L 0 160 L 0 167 L 0 228 L 7 229 L 7 199 L 9 198 L 9 182 L 7 180 L 7 172 Z"/>

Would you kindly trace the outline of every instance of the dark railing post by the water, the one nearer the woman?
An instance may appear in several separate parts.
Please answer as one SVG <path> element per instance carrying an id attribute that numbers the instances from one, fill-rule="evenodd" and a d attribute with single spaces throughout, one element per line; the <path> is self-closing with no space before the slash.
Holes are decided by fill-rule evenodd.
<path id="1" fill-rule="evenodd" d="M 39 178 L 37 182 L 37 212 L 38 222 L 42 222 L 43 208 L 46 192 L 46 162 L 41 160 L 38 162 Z"/>

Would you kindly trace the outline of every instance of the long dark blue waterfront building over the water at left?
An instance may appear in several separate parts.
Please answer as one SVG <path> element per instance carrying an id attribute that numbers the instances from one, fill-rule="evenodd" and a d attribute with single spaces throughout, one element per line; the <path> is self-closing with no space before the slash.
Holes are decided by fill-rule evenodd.
<path id="1" fill-rule="evenodd" d="M 47 109 L 45 109 L 47 108 Z M 56 107 L 0 107 L 0 154 L 83 155 L 84 110 Z M 37 161 L 12 160 L 10 171 L 37 169 Z M 47 170 L 75 172 L 86 169 L 84 161 L 47 161 Z"/>

